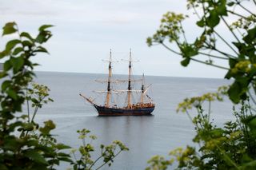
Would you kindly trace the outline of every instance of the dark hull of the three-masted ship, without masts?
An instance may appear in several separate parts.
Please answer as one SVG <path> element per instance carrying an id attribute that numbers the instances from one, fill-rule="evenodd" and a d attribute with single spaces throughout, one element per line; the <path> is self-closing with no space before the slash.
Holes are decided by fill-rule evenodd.
<path id="1" fill-rule="evenodd" d="M 106 108 L 104 106 L 94 105 L 94 108 L 98 111 L 98 116 L 142 116 L 151 115 L 154 110 L 154 106 L 145 108 Z"/>

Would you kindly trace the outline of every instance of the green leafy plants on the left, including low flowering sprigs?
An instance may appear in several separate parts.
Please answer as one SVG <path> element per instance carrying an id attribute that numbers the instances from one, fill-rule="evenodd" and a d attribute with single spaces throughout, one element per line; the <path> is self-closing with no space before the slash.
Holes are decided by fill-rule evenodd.
<path id="1" fill-rule="evenodd" d="M 31 61 L 37 53 L 48 53 L 42 44 L 52 36 L 47 30 L 50 27 L 41 26 L 35 38 L 26 32 L 20 33 L 15 22 L 6 23 L 3 27 L 3 36 L 13 34 L 17 39 L 7 42 L 5 49 L 0 51 L 0 58 L 5 61 L 0 73 L 0 169 L 55 169 L 63 161 L 74 164 L 74 169 L 86 168 L 89 164 L 91 169 L 98 161 L 90 159 L 90 152 L 94 152 L 91 144 L 83 144 L 79 148 L 82 154 L 80 161 L 72 160 L 70 154 L 63 151 L 70 146 L 58 143 L 51 134 L 56 127 L 54 122 L 45 121 L 40 126 L 34 121 L 38 109 L 53 101 L 46 85 L 32 82 L 35 76 L 33 69 L 38 64 Z M 22 105 L 26 105 L 27 115 L 22 115 Z M 85 141 L 90 131 L 83 129 L 78 132 L 80 139 Z M 89 138 L 94 140 L 96 136 Z M 102 145 L 101 149 L 104 164 L 109 165 L 120 152 L 128 150 L 119 141 L 109 146 Z"/>

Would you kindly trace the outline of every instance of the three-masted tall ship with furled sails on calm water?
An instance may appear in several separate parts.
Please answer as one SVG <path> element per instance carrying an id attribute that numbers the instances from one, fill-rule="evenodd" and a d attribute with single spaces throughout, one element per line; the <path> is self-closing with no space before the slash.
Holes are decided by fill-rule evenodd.
<path id="1" fill-rule="evenodd" d="M 106 81 L 99 81 L 106 83 L 106 90 L 102 91 L 94 91 L 96 93 L 105 93 L 105 102 L 103 105 L 99 105 L 96 103 L 95 99 L 92 97 L 86 97 L 80 93 L 80 96 L 83 97 L 86 101 L 88 101 L 98 112 L 98 116 L 142 116 L 142 115 L 151 115 L 154 111 L 154 102 L 147 95 L 148 89 L 150 89 L 150 85 L 146 87 L 145 85 L 145 77 L 142 75 L 142 79 L 134 80 L 132 78 L 132 57 L 130 50 L 130 57 L 128 60 L 128 79 L 127 80 L 114 80 L 112 75 L 112 53 L 110 49 L 110 59 L 107 61 L 108 65 L 108 77 Z M 141 81 L 141 88 L 134 89 L 134 83 Z M 127 89 L 114 89 L 113 84 L 118 83 L 127 83 Z M 137 94 L 137 101 L 134 100 L 134 93 Z M 114 98 L 114 95 L 126 95 L 126 100 L 124 104 L 117 105 L 111 101 Z"/>

